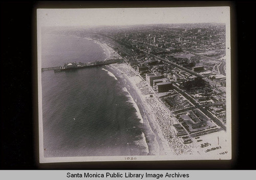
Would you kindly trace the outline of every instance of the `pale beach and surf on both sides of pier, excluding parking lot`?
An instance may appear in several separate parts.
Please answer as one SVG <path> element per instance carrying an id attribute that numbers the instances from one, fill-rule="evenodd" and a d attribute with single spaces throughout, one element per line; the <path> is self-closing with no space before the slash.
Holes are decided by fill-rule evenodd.
<path id="1" fill-rule="evenodd" d="M 74 37 L 82 38 L 78 36 Z M 84 39 L 100 45 L 104 50 L 104 54 L 106 55 L 105 60 L 115 57 L 120 58 L 115 50 L 108 46 L 106 43 L 102 43 L 99 40 L 88 38 Z M 116 65 L 125 67 L 116 67 Z M 116 79 L 115 75 L 117 75 L 121 80 L 126 81 L 126 89 L 136 104 L 133 106 L 136 110 L 136 106 L 138 107 L 140 111 L 138 113 L 140 113 L 142 116 L 141 121 L 143 122 L 143 131 L 146 139 L 145 142 L 148 146 L 148 155 L 190 155 L 192 153 L 191 144 L 183 144 L 179 138 L 176 138 L 176 134 L 172 129 L 172 124 L 175 123 L 175 119 L 169 116 L 168 112 L 166 111 L 167 108 L 161 105 L 159 99 L 157 99 L 155 95 L 153 98 L 148 98 L 145 96 L 145 94 L 143 94 L 141 91 L 142 89 L 138 87 L 137 83 L 145 83 L 145 81 L 142 80 L 139 75 L 137 75 L 135 70 L 127 64 L 111 64 L 106 67 L 112 68 L 108 74 L 113 76 L 116 81 L 119 80 Z M 103 70 L 109 70 L 109 68 L 106 69 L 103 68 Z M 131 72 L 133 75 L 129 74 Z M 152 94 L 154 93 L 152 92 Z"/>

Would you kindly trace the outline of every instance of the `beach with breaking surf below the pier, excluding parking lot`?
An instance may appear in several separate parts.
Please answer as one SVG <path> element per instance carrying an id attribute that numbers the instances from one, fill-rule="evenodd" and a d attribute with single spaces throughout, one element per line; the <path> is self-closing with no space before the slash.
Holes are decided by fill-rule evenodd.
<path id="1" fill-rule="evenodd" d="M 170 111 L 157 98 L 151 87 L 125 63 L 111 64 L 111 71 L 126 81 L 129 92 L 143 114 L 144 132 L 150 153 L 148 155 L 179 156 L 196 154 L 194 143 L 184 144 L 176 136 L 173 124 L 178 123 Z M 152 95 L 152 96 L 150 96 Z"/>

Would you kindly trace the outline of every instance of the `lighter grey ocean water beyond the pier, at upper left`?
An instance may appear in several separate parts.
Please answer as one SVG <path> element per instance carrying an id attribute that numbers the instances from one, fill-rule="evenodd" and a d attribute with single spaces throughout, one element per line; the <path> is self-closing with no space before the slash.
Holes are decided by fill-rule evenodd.
<path id="1" fill-rule="evenodd" d="M 84 38 L 44 34 L 42 39 L 42 67 L 60 66 L 68 62 L 93 62 L 106 58 L 104 50 Z"/>

